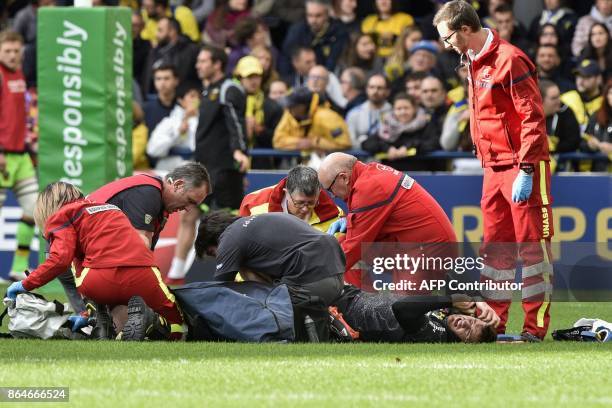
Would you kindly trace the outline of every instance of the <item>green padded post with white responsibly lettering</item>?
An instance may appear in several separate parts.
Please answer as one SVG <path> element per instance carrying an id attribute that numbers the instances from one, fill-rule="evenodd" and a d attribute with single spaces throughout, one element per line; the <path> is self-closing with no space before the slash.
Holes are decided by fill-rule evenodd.
<path id="1" fill-rule="evenodd" d="M 126 7 L 38 11 L 40 186 L 85 194 L 132 174 L 132 36 Z"/>

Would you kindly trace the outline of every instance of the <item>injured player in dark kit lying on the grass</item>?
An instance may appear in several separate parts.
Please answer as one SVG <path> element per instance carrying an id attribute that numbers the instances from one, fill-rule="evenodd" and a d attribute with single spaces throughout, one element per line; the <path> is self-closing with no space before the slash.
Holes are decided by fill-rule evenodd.
<path id="1" fill-rule="evenodd" d="M 488 343 L 497 337 L 499 317 L 485 302 L 368 293 L 345 285 L 336 306 L 367 342 Z M 478 317 L 472 316 L 476 311 Z"/>

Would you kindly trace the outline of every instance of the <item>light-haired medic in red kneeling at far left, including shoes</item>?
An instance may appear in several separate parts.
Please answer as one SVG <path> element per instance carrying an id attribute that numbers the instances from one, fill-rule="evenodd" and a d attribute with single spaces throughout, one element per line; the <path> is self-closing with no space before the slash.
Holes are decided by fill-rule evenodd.
<path id="1" fill-rule="evenodd" d="M 98 304 L 128 305 L 123 340 L 181 338 L 183 318 L 153 252 L 118 207 L 91 202 L 72 184 L 55 182 L 38 196 L 34 220 L 49 243 L 49 257 L 9 286 L 9 298 L 47 284 L 73 264 L 81 295 Z M 86 324 L 87 316 L 74 319 L 73 330 Z"/>

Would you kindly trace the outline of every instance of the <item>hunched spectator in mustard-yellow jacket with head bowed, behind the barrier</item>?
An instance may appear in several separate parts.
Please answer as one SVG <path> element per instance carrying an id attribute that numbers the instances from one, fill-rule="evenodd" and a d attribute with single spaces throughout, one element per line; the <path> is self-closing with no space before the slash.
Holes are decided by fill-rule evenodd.
<path id="1" fill-rule="evenodd" d="M 297 88 L 287 97 L 272 144 L 280 150 L 334 151 L 350 148 L 351 139 L 342 116 L 319 106 L 316 93 Z"/>

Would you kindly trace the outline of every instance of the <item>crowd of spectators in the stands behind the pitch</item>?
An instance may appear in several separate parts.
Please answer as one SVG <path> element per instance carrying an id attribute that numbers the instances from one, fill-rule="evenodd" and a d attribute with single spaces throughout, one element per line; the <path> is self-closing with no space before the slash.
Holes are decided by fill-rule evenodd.
<path id="1" fill-rule="evenodd" d="M 225 74 L 246 95 L 245 142 L 300 150 L 363 150 L 400 170 L 478 171 L 467 68 L 432 26 L 444 0 L 94 0 L 132 8 L 135 169 L 174 168 L 196 147 L 203 44 L 225 50 Z M 1 28 L 23 36 L 30 142 L 36 141 L 36 14 L 65 0 L 3 2 Z M 529 26 L 512 0 L 473 1 L 487 28 L 534 61 L 556 171 L 608 171 L 601 160 L 557 163 L 558 153 L 612 154 L 612 0 L 543 0 Z M 592 5 L 592 6 L 591 6 Z M 591 8 L 589 9 L 589 6 Z M 254 167 L 286 165 L 257 157 Z"/>

